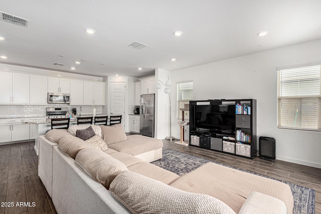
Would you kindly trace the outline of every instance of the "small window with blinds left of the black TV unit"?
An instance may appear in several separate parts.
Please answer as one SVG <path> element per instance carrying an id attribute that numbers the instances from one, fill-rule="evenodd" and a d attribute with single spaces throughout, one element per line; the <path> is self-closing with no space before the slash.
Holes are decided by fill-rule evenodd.
<path id="1" fill-rule="evenodd" d="M 182 111 L 180 108 L 184 108 L 184 104 L 190 104 L 190 100 L 193 100 L 193 82 L 182 82 L 177 84 L 177 118 L 182 119 Z M 190 119 L 190 112 L 184 112 L 184 119 Z"/>

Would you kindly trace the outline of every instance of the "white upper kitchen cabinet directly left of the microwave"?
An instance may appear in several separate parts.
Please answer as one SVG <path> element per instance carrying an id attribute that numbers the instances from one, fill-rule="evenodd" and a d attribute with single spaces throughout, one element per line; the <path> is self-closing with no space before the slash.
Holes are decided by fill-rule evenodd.
<path id="1" fill-rule="evenodd" d="M 30 75 L 30 104 L 48 103 L 48 77 Z"/>

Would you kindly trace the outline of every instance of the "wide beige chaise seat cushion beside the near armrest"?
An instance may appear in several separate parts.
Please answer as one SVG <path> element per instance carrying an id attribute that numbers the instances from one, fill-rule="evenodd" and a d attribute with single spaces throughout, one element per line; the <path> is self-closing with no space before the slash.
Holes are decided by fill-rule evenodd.
<path id="1" fill-rule="evenodd" d="M 216 163 L 204 164 L 183 175 L 171 186 L 216 197 L 237 213 L 251 191 L 276 197 L 285 203 L 288 213 L 293 210 L 293 195 L 289 185 Z"/>

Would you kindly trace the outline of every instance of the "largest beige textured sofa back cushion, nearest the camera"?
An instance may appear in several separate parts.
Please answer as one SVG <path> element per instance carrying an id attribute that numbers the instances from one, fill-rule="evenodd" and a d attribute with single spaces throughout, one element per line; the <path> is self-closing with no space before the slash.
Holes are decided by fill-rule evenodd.
<path id="1" fill-rule="evenodd" d="M 131 171 L 119 174 L 110 192 L 132 213 L 235 213 L 212 196 L 182 191 Z"/>

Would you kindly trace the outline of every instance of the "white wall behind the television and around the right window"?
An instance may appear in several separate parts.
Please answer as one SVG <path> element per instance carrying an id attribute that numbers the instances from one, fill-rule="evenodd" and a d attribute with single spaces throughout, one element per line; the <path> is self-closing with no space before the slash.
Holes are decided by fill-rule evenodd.
<path id="1" fill-rule="evenodd" d="M 321 132 L 277 128 L 276 71 L 280 66 L 320 61 L 320 47 L 317 40 L 174 71 L 173 87 L 176 82 L 193 80 L 194 100 L 256 99 L 257 136 L 276 138 L 276 158 L 321 168 Z M 172 132 L 179 137 L 176 93 L 172 90 Z"/>

